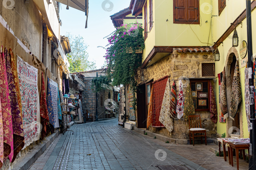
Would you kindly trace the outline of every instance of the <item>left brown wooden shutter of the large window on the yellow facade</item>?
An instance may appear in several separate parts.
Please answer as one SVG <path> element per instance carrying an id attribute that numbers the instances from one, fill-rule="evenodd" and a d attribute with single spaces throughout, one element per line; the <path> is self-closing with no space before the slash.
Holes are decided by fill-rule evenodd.
<path id="1" fill-rule="evenodd" d="M 174 13 L 174 22 L 186 21 L 186 0 L 174 0 Z"/>

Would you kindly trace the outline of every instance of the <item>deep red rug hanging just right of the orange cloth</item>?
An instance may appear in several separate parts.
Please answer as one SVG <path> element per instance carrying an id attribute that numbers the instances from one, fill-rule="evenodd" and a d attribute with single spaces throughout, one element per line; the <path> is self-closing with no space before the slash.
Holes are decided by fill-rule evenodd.
<path id="1" fill-rule="evenodd" d="M 153 90 L 152 127 L 164 127 L 164 125 L 159 121 L 159 115 L 162 107 L 162 101 L 164 97 L 167 80 L 168 80 L 168 76 L 165 76 L 153 82 L 154 90 Z"/>

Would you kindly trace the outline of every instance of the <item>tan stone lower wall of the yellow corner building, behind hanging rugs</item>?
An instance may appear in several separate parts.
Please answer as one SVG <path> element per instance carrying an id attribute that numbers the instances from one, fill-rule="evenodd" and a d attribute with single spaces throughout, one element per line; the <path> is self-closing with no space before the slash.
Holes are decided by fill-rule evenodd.
<path id="1" fill-rule="evenodd" d="M 202 63 L 214 63 L 213 55 L 211 53 L 178 53 L 174 51 L 172 54 L 162 58 L 156 63 L 143 69 L 145 81 L 154 79 L 160 79 L 163 76 L 169 76 L 170 79 L 176 81 L 177 93 L 179 91 L 178 81 L 181 77 L 188 78 L 202 78 Z M 141 69 L 138 69 L 137 74 L 138 82 L 141 80 Z M 215 89 L 215 77 L 211 77 L 211 83 Z M 183 80 L 186 83 L 186 80 Z M 186 86 L 183 87 L 184 97 L 186 96 Z M 137 111 L 136 111 L 137 112 Z M 136 116 L 139 113 L 136 113 Z M 202 128 L 206 129 L 207 137 L 216 137 L 216 127 L 215 124 L 210 120 L 210 111 L 196 111 L 196 115 L 201 116 Z M 188 122 L 184 121 L 183 117 L 181 119 L 174 118 L 174 130 L 169 132 L 165 127 L 156 128 L 149 127 L 149 131 L 159 133 L 168 137 L 176 139 L 189 139 L 188 133 Z"/>

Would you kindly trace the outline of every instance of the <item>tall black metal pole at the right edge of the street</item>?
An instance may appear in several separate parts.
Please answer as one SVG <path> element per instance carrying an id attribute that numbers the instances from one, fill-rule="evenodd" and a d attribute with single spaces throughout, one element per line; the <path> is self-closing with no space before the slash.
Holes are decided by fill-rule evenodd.
<path id="1" fill-rule="evenodd" d="M 251 1 L 246 1 L 246 21 L 247 21 L 247 43 L 248 43 L 248 70 L 249 70 L 249 87 L 250 96 L 254 96 L 253 85 L 253 38 L 252 38 L 252 14 Z M 249 149 L 249 169 L 256 169 L 256 119 L 255 119 L 254 98 L 250 98 L 250 149 Z"/>

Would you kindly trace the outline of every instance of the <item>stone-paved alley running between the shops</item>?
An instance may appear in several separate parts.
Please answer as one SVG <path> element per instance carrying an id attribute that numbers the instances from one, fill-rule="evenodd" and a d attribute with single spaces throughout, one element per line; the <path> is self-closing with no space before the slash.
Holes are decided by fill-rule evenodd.
<path id="1" fill-rule="evenodd" d="M 166 144 L 118 126 L 117 119 L 74 124 L 71 129 L 74 135 L 60 134 L 30 169 L 236 169 L 236 163 L 231 167 L 210 152 L 215 144 Z M 241 160 L 240 169 L 246 167 Z"/>

